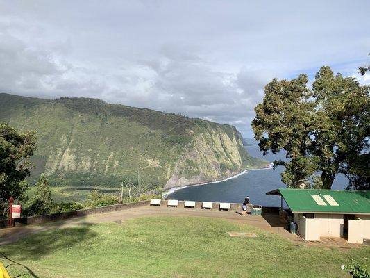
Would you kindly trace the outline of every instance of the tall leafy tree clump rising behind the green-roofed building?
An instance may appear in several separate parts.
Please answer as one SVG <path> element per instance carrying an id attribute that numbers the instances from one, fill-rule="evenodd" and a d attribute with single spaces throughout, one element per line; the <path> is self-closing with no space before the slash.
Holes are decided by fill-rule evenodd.
<path id="1" fill-rule="evenodd" d="M 338 172 L 353 188 L 366 187 L 369 168 L 358 166 L 369 151 L 369 87 L 334 76 L 330 67 L 321 67 L 312 90 L 307 83 L 301 75 L 266 86 L 252 122 L 260 149 L 285 149 L 288 161 L 274 165 L 285 165 L 282 180 L 289 187 L 331 188 Z"/>

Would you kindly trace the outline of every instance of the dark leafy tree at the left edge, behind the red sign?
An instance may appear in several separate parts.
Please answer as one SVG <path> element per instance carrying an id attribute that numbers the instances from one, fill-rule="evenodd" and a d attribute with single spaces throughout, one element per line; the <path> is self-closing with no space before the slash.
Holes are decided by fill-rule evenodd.
<path id="1" fill-rule="evenodd" d="M 36 140 L 35 131 L 18 133 L 0 122 L 0 218 L 6 218 L 9 197 L 24 199 Z"/>

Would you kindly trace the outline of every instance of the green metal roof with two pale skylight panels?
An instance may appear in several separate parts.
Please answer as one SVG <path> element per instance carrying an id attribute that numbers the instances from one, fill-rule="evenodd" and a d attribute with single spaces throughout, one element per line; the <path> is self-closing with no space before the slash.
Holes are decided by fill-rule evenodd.
<path id="1" fill-rule="evenodd" d="M 292 212 L 370 214 L 370 191 L 280 188 L 266 194 L 283 196 Z"/>

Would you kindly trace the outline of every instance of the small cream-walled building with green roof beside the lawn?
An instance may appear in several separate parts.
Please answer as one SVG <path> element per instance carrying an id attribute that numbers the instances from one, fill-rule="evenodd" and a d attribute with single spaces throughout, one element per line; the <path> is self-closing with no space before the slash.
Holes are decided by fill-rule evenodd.
<path id="1" fill-rule="evenodd" d="M 370 191 L 276 189 L 293 213 L 297 234 L 305 240 L 342 237 L 349 243 L 370 239 Z"/>

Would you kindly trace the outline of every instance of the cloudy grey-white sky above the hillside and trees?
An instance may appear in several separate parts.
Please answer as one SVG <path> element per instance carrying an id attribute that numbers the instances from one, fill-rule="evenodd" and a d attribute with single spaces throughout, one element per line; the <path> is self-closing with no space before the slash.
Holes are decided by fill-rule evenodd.
<path id="1" fill-rule="evenodd" d="M 94 97 L 253 137 L 271 79 L 370 85 L 370 1 L 0 0 L 0 92 Z"/>

